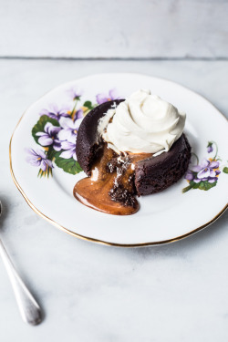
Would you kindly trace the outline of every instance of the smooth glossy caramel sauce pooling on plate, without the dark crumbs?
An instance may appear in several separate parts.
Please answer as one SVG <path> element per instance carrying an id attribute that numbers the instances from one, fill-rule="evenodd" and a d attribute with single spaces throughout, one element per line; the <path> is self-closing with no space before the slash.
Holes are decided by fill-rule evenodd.
<path id="1" fill-rule="evenodd" d="M 113 215 L 130 215 L 138 212 L 140 204 L 135 200 L 135 204 L 124 205 L 121 202 L 116 202 L 111 199 L 109 195 L 110 190 L 113 188 L 114 182 L 117 180 L 117 171 L 107 171 L 107 164 L 114 158 L 116 153 L 105 146 L 102 156 L 96 161 L 92 167 L 91 177 L 84 178 L 75 185 L 73 193 L 75 198 L 95 209 L 99 212 L 106 212 Z M 117 156 L 117 155 L 116 155 Z M 149 158 L 151 154 L 130 154 L 130 163 L 126 171 L 121 175 L 121 185 L 124 190 L 132 192 L 132 183 L 130 183 L 130 176 L 134 174 L 132 164 Z"/>

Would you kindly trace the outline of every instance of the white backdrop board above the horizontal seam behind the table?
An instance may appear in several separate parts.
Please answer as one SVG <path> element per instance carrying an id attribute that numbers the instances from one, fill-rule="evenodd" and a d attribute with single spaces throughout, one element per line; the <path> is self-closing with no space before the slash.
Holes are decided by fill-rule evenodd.
<path id="1" fill-rule="evenodd" d="M 226 0 L 1 0 L 0 56 L 228 57 Z"/>

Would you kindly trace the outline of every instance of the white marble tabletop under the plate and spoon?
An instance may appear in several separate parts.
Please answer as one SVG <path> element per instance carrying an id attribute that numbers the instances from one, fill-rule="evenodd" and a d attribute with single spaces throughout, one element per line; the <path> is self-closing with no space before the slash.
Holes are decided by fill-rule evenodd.
<path id="1" fill-rule="evenodd" d="M 62 82 L 110 71 L 170 78 L 228 117 L 225 61 L 0 60 L 1 236 L 45 314 L 40 326 L 22 322 L 0 262 L 0 341 L 226 342 L 228 212 L 175 244 L 114 248 L 43 221 L 11 179 L 8 143 L 26 107 Z"/>

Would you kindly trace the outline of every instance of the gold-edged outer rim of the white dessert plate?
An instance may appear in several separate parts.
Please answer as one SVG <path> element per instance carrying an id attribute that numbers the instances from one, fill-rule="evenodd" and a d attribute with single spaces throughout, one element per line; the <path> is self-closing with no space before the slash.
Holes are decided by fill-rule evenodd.
<path id="1" fill-rule="evenodd" d="M 188 91 L 191 91 L 193 94 L 199 96 L 200 98 L 202 98 L 203 100 L 207 101 L 208 103 L 210 103 L 210 105 L 216 109 L 216 111 L 223 117 L 223 119 L 226 119 L 226 117 L 223 115 L 223 113 L 217 109 L 213 104 L 212 102 L 210 102 L 207 98 L 203 97 L 201 94 L 199 93 L 196 93 L 195 91 L 193 91 L 192 89 L 190 88 L 187 88 L 185 86 L 182 86 L 180 83 L 177 83 L 177 82 L 173 82 L 171 81 L 170 79 L 167 79 L 167 78 L 158 78 L 158 77 L 153 77 L 153 76 L 150 76 L 150 75 L 146 75 L 146 74 L 140 74 L 140 73 L 99 73 L 99 74 L 91 74 L 91 75 L 88 75 L 88 76 L 85 76 L 83 78 L 76 78 L 76 79 L 73 79 L 71 81 L 67 81 L 67 82 L 64 82 L 60 85 L 58 85 L 57 87 L 54 87 L 54 88 L 51 88 L 50 90 L 48 90 L 45 94 L 43 94 L 40 98 L 37 98 L 35 102 L 33 102 L 25 111 L 24 113 L 22 114 L 21 118 L 18 120 L 17 124 L 16 124 L 16 128 L 15 130 L 13 131 L 12 133 L 12 136 L 10 138 L 10 142 L 9 142 L 9 161 L 10 161 L 10 173 L 11 173 L 11 176 L 13 178 L 13 181 L 15 182 L 16 184 L 16 188 L 18 189 L 18 191 L 22 194 L 23 198 L 26 200 L 26 203 L 30 206 L 30 208 L 36 212 L 40 217 L 42 217 L 43 219 L 45 219 L 48 223 L 51 223 L 52 225 L 56 226 L 59 230 L 65 232 L 65 233 L 68 233 L 69 235 L 72 235 L 72 236 L 75 236 L 77 237 L 78 239 L 81 239 L 81 240 L 85 240 L 85 241 L 89 241 L 89 242 L 93 242 L 93 243 L 97 243 L 97 244 L 104 244 L 104 245 L 109 245 L 109 246 L 115 246 L 115 247 L 146 247 L 146 246 L 152 246 L 152 245 L 161 245 L 161 244 L 170 244 L 170 243 L 174 243 L 174 242 L 177 242 L 177 241 L 180 241 L 188 236 L 191 236 L 192 234 L 194 233 L 198 233 L 200 231 L 202 231 L 202 229 L 208 227 L 209 225 L 211 225 L 212 223 L 214 223 L 220 216 L 222 216 L 223 212 L 226 211 L 226 209 L 228 208 L 228 203 L 223 207 L 223 209 L 218 212 L 213 218 L 212 220 L 210 220 L 209 222 L 207 223 L 204 223 L 202 224 L 200 227 L 197 227 L 195 229 L 193 229 L 191 232 L 189 233 L 185 233 L 185 234 L 182 234 L 182 235 L 179 235 L 177 237 L 174 237 L 174 238 L 171 238 L 171 239 L 168 239 L 168 240 L 162 240 L 162 241 L 156 241 L 156 242 L 150 242 L 150 243 L 140 243 L 140 244 L 116 244 L 116 243 L 110 243 L 108 241 L 103 241 L 103 240 L 99 240 L 99 239 L 95 239 L 95 238 L 92 238 L 92 237 L 89 237 L 89 236 L 85 236 L 85 235 L 82 235 L 82 234 L 79 234 L 79 233 L 75 233 L 69 229 L 67 229 L 66 227 L 64 227 L 63 225 L 55 222 L 54 220 L 52 220 L 51 218 L 49 218 L 47 215 L 45 215 L 43 212 L 40 212 L 36 206 L 28 199 L 28 197 L 26 196 L 26 192 L 23 191 L 23 189 L 21 188 L 20 184 L 18 183 L 18 181 L 16 180 L 16 176 L 15 176 L 15 173 L 13 171 L 13 165 L 12 165 L 12 153 L 11 153 L 11 146 L 12 146 L 12 140 L 14 138 L 14 134 L 16 132 L 16 129 L 17 127 L 19 126 L 21 120 L 24 118 L 24 116 L 26 115 L 26 112 L 28 109 L 30 109 L 31 106 L 33 106 L 37 101 L 39 101 L 41 98 L 44 98 L 48 93 L 56 90 L 57 88 L 59 87 L 64 87 L 65 85 L 67 85 L 68 83 L 70 82 L 73 82 L 75 80 L 79 81 L 80 79 L 85 79 L 85 78 L 89 78 L 89 77 L 96 77 L 96 76 L 99 76 L 99 75 L 117 75 L 117 74 L 121 74 L 121 75 L 135 75 L 135 76 L 142 76 L 142 77 L 149 77 L 149 78 L 155 78 L 155 79 L 160 79 L 160 80 L 164 80 L 166 82 L 170 82 L 172 84 L 175 84 L 181 88 L 184 88 L 184 89 L 187 89 Z"/>

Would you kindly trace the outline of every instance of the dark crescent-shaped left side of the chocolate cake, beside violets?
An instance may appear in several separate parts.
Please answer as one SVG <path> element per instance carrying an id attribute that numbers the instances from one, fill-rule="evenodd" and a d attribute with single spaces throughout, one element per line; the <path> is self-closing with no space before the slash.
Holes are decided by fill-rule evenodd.
<path id="1" fill-rule="evenodd" d="M 95 161 L 98 150 L 102 148 L 98 141 L 98 120 L 114 105 L 118 106 L 124 99 L 115 99 L 105 102 L 92 109 L 82 120 L 77 136 L 76 154 L 78 162 L 88 176 L 93 161 Z"/>

